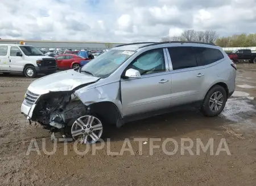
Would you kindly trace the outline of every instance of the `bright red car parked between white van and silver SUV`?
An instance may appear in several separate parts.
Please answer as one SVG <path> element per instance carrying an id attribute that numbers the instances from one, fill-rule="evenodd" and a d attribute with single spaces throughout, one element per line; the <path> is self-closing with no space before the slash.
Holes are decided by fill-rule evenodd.
<path id="1" fill-rule="evenodd" d="M 55 59 L 59 69 L 79 68 L 81 61 L 87 60 L 75 54 L 63 54 L 55 57 Z"/>

